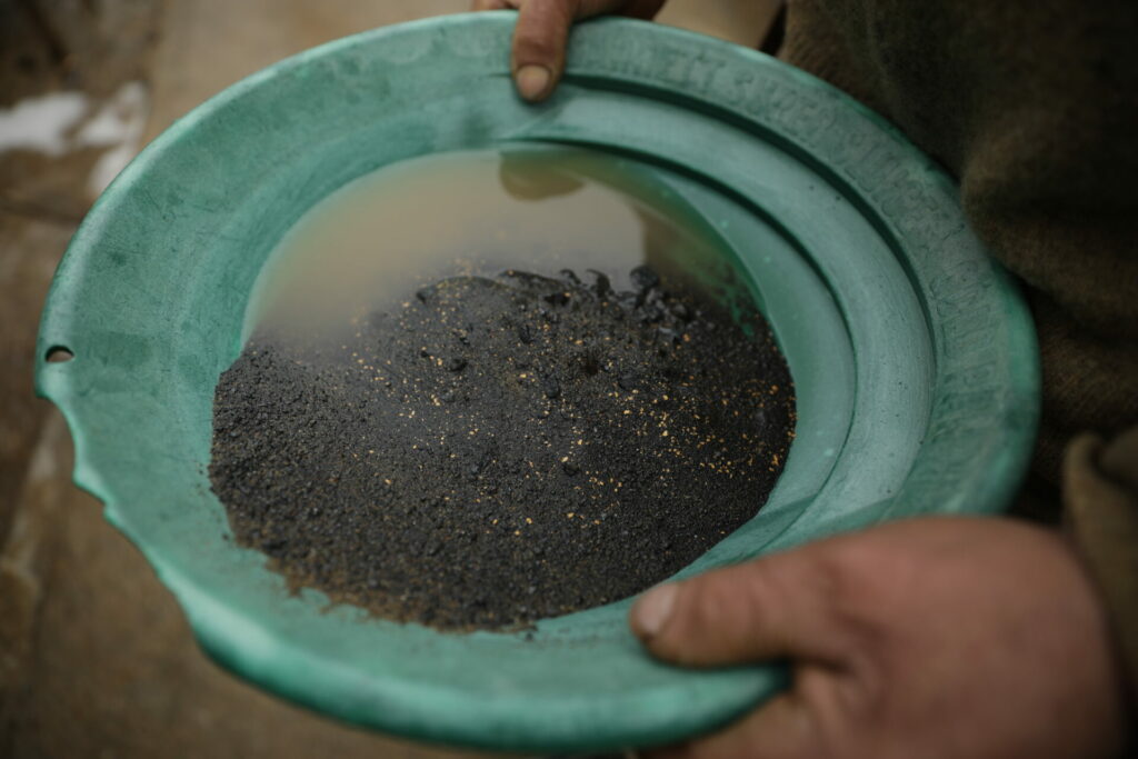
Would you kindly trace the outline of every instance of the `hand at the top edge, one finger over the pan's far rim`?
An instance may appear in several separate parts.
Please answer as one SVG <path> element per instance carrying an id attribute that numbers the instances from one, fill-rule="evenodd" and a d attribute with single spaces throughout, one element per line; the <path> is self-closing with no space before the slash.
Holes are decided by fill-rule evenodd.
<path id="1" fill-rule="evenodd" d="M 574 22 L 603 14 L 652 18 L 665 0 L 475 0 L 475 10 L 518 9 L 510 71 L 518 93 L 537 102 L 550 97 L 566 68 Z"/>

